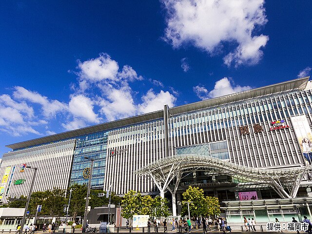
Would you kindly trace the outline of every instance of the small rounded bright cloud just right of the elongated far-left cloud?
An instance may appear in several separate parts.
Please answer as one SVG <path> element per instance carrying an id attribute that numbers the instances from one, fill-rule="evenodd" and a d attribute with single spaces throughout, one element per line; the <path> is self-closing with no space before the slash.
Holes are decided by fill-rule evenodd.
<path id="1" fill-rule="evenodd" d="M 83 95 L 72 96 L 68 103 L 70 113 L 76 118 L 83 118 L 92 123 L 101 120 L 93 111 L 94 102 Z"/>

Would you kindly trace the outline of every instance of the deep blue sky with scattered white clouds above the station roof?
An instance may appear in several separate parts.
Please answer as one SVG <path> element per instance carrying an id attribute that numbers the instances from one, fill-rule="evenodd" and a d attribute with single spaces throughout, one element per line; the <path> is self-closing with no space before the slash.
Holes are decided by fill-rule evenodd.
<path id="1" fill-rule="evenodd" d="M 5 145 L 310 75 L 312 1 L 0 2 Z"/>

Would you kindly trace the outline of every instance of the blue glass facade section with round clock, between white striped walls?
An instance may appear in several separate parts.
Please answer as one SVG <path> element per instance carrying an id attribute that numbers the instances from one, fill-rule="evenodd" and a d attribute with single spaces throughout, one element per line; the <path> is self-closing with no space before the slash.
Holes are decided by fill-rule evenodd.
<path id="1" fill-rule="evenodd" d="M 70 180 L 71 185 L 88 183 L 88 178 L 82 176 L 82 171 L 84 168 L 91 166 L 91 161 L 84 158 L 89 157 L 95 159 L 93 162 L 91 188 L 103 189 L 107 136 L 108 132 L 100 132 L 77 138 Z"/>

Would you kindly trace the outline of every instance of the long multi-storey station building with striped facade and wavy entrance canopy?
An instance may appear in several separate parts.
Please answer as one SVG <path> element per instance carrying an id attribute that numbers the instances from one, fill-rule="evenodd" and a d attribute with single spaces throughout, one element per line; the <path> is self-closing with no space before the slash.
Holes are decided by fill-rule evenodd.
<path id="1" fill-rule="evenodd" d="M 312 218 L 312 82 L 269 86 L 7 145 L 0 199 L 87 183 L 124 195 L 161 195 L 181 212 L 189 185 L 216 196 L 230 222 Z M 310 147 L 310 148 L 309 148 Z M 310 151 L 309 151 L 310 150 Z M 89 159 L 86 159 L 89 158 Z M 312 157 L 312 156 L 311 156 Z M 50 161 L 49 161 L 50 160 Z M 52 170 L 57 168 L 57 170 Z M 22 184 L 17 180 L 25 179 Z"/>

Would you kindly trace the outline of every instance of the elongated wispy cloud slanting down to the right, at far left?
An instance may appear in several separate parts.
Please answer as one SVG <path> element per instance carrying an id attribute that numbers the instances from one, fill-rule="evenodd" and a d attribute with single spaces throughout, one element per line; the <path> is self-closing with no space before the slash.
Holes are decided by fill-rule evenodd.
<path id="1" fill-rule="evenodd" d="M 42 107 L 43 115 L 47 118 L 55 117 L 57 113 L 66 110 L 66 105 L 58 100 L 49 100 L 37 92 L 29 91 L 23 87 L 16 86 L 13 97 L 23 99 L 32 103 L 38 103 Z"/>

